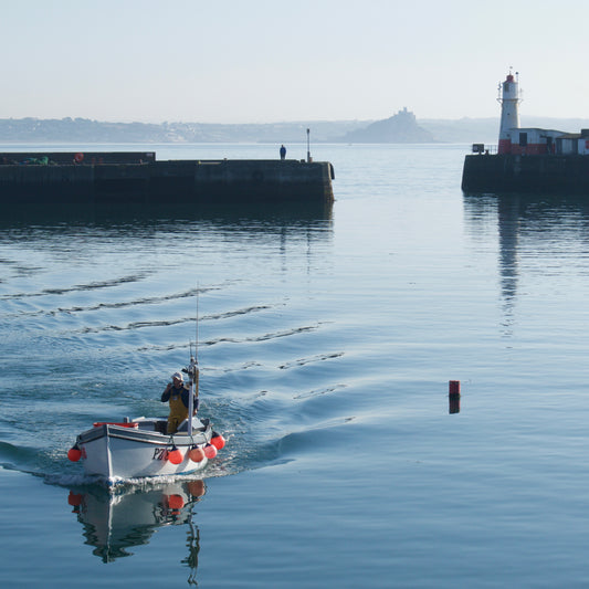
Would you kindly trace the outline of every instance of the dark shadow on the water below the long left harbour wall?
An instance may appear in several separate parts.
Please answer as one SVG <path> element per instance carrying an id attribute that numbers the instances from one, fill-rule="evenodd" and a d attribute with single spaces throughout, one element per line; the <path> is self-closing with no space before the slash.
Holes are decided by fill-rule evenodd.
<path id="1" fill-rule="evenodd" d="M 210 221 L 217 224 L 255 222 L 264 225 L 297 225 L 330 222 L 332 202 L 233 202 L 233 203 L 2 203 L 0 230 L 25 227 L 158 224 Z"/>

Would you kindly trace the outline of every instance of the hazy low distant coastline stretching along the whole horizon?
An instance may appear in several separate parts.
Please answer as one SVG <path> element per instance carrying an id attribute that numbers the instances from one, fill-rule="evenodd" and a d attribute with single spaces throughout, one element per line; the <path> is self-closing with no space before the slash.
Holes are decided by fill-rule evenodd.
<path id="1" fill-rule="evenodd" d="M 396 115 L 398 116 L 398 115 Z M 193 143 L 487 143 L 496 144 L 499 117 L 461 119 L 416 119 L 424 132 L 413 137 L 386 137 L 374 140 L 366 133 L 378 125 L 390 128 L 390 119 L 308 120 L 266 124 L 214 123 L 108 123 L 86 118 L 3 118 L 0 144 L 193 144 Z M 571 132 L 589 128 L 589 119 L 522 117 L 526 127 L 560 128 Z M 431 140 L 429 140 L 431 139 Z"/>

